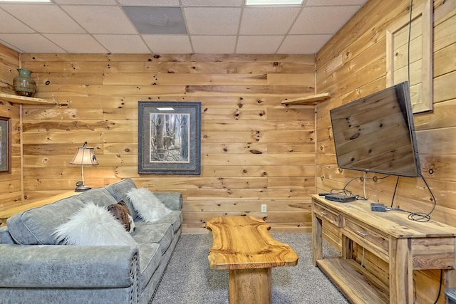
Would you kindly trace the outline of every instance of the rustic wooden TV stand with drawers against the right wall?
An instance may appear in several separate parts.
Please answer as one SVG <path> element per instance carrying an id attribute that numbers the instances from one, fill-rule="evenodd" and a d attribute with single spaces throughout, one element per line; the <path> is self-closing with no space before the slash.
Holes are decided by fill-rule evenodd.
<path id="1" fill-rule="evenodd" d="M 448 287 L 456 286 L 456 227 L 410 221 L 405 212 L 371 211 L 370 201 L 340 203 L 312 197 L 312 259 L 351 303 L 413 303 L 413 270 L 444 269 Z M 323 258 L 322 224 L 338 227 L 342 256 Z M 389 264 L 389 285 L 363 268 L 353 243 Z"/>

